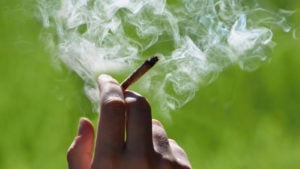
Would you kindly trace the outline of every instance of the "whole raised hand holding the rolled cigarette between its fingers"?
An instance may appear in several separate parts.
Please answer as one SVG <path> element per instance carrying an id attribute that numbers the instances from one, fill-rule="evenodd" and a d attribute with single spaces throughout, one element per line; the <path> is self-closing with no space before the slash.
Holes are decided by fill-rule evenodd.
<path id="1" fill-rule="evenodd" d="M 151 120 L 145 98 L 123 93 L 107 75 L 99 77 L 99 87 L 101 113 L 95 149 L 93 125 L 82 118 L 68 150 L 69 169 L 191 169 L 184 150 L 168 139 L 160 122 Z"/>

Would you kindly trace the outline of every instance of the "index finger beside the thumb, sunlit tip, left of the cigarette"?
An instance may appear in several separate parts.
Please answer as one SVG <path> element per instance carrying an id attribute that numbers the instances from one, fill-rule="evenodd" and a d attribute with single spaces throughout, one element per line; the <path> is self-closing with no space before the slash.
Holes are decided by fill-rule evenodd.
<path id="1" fill-rule="evenodd" d="M 114 156 L 124 146 L 125 101 L 118 82 L 108 75 L 98 79 L 101 99 L 100 120 L 95 148 L 95 159 Z"/>

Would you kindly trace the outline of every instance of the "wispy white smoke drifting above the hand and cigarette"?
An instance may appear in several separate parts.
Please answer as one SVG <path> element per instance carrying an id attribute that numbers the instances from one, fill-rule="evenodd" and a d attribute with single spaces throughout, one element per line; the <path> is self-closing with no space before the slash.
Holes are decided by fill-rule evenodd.
<path id="1" fill-rule="evenodd" d="M 95 107 L 99 74 L 130 72 L 156 54 L 161 61 L 139 86 L 163 111 L 180 108 L 226 67 L 255 70 L 275 45 L 272 29 L 291 29 L 288 11 L 255 1 L 40 0 L 38 7 L 46 43 L 85 81 Z"/>

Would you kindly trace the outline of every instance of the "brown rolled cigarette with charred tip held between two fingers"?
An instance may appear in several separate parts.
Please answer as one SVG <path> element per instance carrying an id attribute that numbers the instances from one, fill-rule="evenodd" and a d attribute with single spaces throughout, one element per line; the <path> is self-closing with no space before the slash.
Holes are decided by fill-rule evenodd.
<path id="1" fill-rule="evenodd" d="M 123 91 L 125 91 L 130 85 L 136 82 L 139 78 L 141 78 L 149 69 L 151 69 L 155 63 L 158 61 L 157 56 L 152 56 L 147 59 L 144 64 L 138 67 L 131 75 L 129 75 L 122 83 L 121 87 Z"/>

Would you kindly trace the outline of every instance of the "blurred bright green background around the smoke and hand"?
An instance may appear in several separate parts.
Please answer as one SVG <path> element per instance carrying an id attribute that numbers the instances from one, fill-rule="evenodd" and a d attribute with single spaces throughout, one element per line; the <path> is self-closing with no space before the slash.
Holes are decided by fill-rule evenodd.
<path id="1" fill-rule="evenodd" d="M 298 31 L 275 32 L 270 61 L 254 72 L 227 69 L 171 120 L 154 106 L 153 117 L 186 150 L 194 169 L 300 168 L 300 1 L 261 3 L 296 11 L 289 22 Z M 41 42 L 36 5 L 0 0 L 2 169 L 67 168 L 79 118 L 97 123 L 83 81 L 57 65 Z"/>

